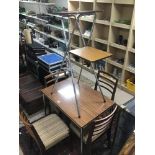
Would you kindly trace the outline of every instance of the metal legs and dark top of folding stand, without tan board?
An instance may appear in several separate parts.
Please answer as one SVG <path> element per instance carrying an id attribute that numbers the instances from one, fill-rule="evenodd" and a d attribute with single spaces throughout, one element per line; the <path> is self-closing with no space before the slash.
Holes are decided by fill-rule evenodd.
<path id="1" fill-rule="evenodd" d="M 56 78 L 56 81 L 55 81 L 55 84 L 58 82 L 58 79 L 59 79 L 59 73 L 60 71 L 63 69 L 63 64 L 64 64 L 64 61 L 67 60 L 66 62 L 68 62 L 68 70 L 70 71 L 71 73 L 71 78 L 72 78 L 72 85 L 73 85 L 73 90 L 74 90 L 74 94 L 75 94 L 75 101 L 76 101 L 76 108 L 77 108 L 77 113 L 78 113 L 78 117 L 80 118 L 80 111 L 79 111 L 79 105 L 78 105 L 78 100 L 77 100 L 77 94 L 76 94 L 76 89 L 75 89 L 75 83 L 74 83 L 74 77 L 73 77 L 73 70 L 72 70 L 72 66 L 71 66 L 71 61 L 70 61 L 70 44 L 71 44 L 71 39 L 73 37 L 73 34 L 74 34 L 74 31 L 75 31 L 75 27 L 77 26 L 78 28 L 78 31 L 80 33 L 80 37 L 82 39 L 82 43 L 83 43 L 83 46 L 86 46 L 86 42 L 82 36 L 82 32 L 81 32 L 81 28 L 80 28 L 80 24 L 79 24 L 79 19 L 80 17 L 82 16 L 89 16 L 89 15 L 94 15 L 94 19 L 93 19 L 93 25 L 92 25 L 92 28 L 91 28 L 91 33 L 90 33 L 90 36 L 89 36 L 89 39 L 88 39 L 88 43 L 87 45 L 90 43 L 90 40 L 91 40 L 91 36 L 92 36 L 92 33 L 93 33 L 93 29 L 94 29 L 94 23 L 95 23 L 95 20 L 96 20 L 96 12 L 102 12 L 102 11 L 80 11 L 80 12 L 62 12 L 62 13 L 53 13 L 55 15 L 61 15 L 62 16 L 62 27 L 63 27 L 63 35 L 64 35 L 64 40 L 65 40 L 65 44 L 66 44 L 66 51 L 65 51 L 65 54 L 64 54 L 64 58 L 63 58 L 63 62 L 61 63 L 61 67 L 58 71 L 58 76 Z M 73 30 L 72 32 L 70 33 L 70 38 L 69 38 L 69 41 L 67 42 L 67 37 L 66 37 L 66 32 L 65 32 L 65 26 L 64 26 L 64 17 L 73 17 L 75 19 L 75 25 L 73 27 Z M 93 70 L 93 73 L 95 75 L 95 78 L 96 78 L 96 81 L 99 85 L 99 82 L 97 80 L 97 76 L 96 76 L 96 73 L 94 71 L 94 67 L 93 67 L 93 64 L 91 62 L 91 68 Z M 78 84 L 79 84 L 79 80 L 80 80 L 80 77 L 81 77 L 81 73 L 82 73 L 82 66 L 81 66 L 81 69 L 80 69 L 80 74 L 79 74 L 79 78 L 78 78 Z M 53 89 L 52 89 L 52 92 L 54 91 L 54 88 L 55 88 L 55 84 L 53 85 Z M 99 86 L 100 88 L 100 86 Z M 101 91 L 101 88 L 100 88 L 100 91 Z M 105 98 L 104 98 L 104 95 L 101 91 L 101 94 L 103 96 L 103 99 L 104 99 L 104 102 L 105 102 Z"/>

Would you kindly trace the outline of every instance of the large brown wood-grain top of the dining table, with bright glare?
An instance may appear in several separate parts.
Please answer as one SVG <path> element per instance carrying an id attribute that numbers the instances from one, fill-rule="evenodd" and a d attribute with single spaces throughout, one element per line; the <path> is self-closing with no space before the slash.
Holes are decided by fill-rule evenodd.
<path id="1" fill-rule="evenodd" d="M 108 98 L 106 98 L 106 102 L 104 103 L 100 92 L 93 90 L 85 84 L 80 83 L 78 85 L 77 82 L 75 82 L 75 87 L 80 109 L 80 118 L 78 118 L 77 114 L 71 78 L 56 83 L 53 94 L 51 94 L 52 86 L 44 88 L 41 91 L 80 128 L 89 124 L 98 115 L 113 105 L 113 102 Z"/>

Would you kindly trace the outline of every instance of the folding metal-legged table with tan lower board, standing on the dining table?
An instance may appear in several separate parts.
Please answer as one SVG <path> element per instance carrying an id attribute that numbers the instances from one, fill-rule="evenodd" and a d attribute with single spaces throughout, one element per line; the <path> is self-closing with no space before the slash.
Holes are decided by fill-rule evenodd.
<path id="1" fill-rule="evenodd" d="M 80 19 L 80 17 L 82 17 L 82 16 L 94 15 L 93 24 L 92 24 L 92 28 L 91 28 L 91 33 L 90 33 L 90 36 L 89 36 L 89 39 L 88 39 L 88 44 L 89 44 L 90 39 L 91 39 L 91 36 L 92 36 L 92 32 L 93 32 L 93 28 L 94 28 L 94 23 L 95 23 L 96 13 L 97 13 L 97 12 L 103 12 L 103 11 L 71 11 L 71 12 L 52 13 L 52 14 L 54 14 L 54 15 L 61 15 L 61 16 L 62 16 L 62 26 L 63 26 L 63 30 L 64 30 L 63 32 L 64 32 L 65 43 L 66 43 L 66 47 L 67 47 L 67 48 L 66 48 L 67 50 L 65 51 L 65 54 L 64 54 L 64 58 L 63 58 L 62 64 L 64 63 L 65 60 L 68 62 L 68 70 L 71 72 L 73 91 L 74 91 L 74 96 L 75 96 L 75 101 L 76 101 L 76 108 L 77 108 L 77 112 L 78 112 L 78 117 L 79 117 L 79 118 L 80 118 L 80 110 L 79 110 L 79 105 L 78 105 L 78 100 L 77 100 L 77 94 L 76 94 L 76 90 L 75 90 L 75 84 L 74 84 L 74 81 L 73 81 L 73 70 L 72 70 L 72 66 L 71 66 L 70 53 L 69 53 L 69 51 L 70 51 L 70 43 L 71 43 L 71 39 L 72 39 L 72 37 L 73 37 L 75 28 L 76 28 L 76 26 L 77 26 L 77 28 L 78 28 L 78 30 L 79 30 L 79 32 L 80 32 L 80 37 L 81 37 L 81 39 L 82 39 L 83 46 L 84 46 L 84 47 L 86 46 L 85 40 L 84 40 L 84 38 L 83 38 L 83 36 L 82 36 L 82 32 L 81 32 L 81 28 L 80 28 L 79 19 Z M 72 17 L 72 18 L 75 19 L 75 25 L 74 25 L 74 27 L 73 27 L 72 32 L 70 33 L 70 38 L 69 38 L 69 41 L 68 41 L 68 42 L 67 42 L 67 39 L 66 39 L 66 33 L 65 33 L 65 27 L 64 27 L 64 17 Z M 86 48 L 86 49 L 87 49 L 87 48 Z M 90 48 L 90 49 L 91 49 L 91 48 Z M 88 49 L 88 50 L 89 50 L 89 49 Z M 81 51 L 81 50 L 80 50 L 80 51 Z M 84 52 L 84 55 L 85 55 L 85 54 L 86 54 L 86 55 L 88 54 L 88 55 L 87 55 L 87 56 L 85 55 L 84 57 L 81 57 L 81 58 L 83 58 L 83 59 L 88 60 L 88 61 L 91 62 L 91 67 L 92 67 L 93 72 L 94 72 L 94 68 L 93 68 L 92 62 L 95 62 L 95 61 L 97 61 L 97 60 L 101 60 L 101 59 L 107 58 L 107 57 L 111 56 L 111 54 L 110 54 L 110 53 L 107 53 L 107 54 L 106 54 L 106 53 L 103 53 L 103 54 L 101 54 L 102 51 L 97 50 L 97 49 L 95 49 L 95 50 L 91 49 L 91 51 L 92 51 L 92 53 L 94 52 L 92 56 L 96 55 L 96 52 L 97 52 L 97 55 L 99 54 L 99 56 L 97 56 L 96 59 L 94 59 L 93 61 L 91 61 L 91 59 L 89 59 L 89 58 L 87 59 L 87 56 L 89 55 L 89 53 Z M 70 51 L 70 52 L 71 52 L 71 51 Z M 76 53 L 76 52 L 71 52 L 71 53 L 72 53 L 72 54 L 75 54 L 75 55 L 77 55 L 77 56 L 80 56 L 80 55 L 78 54 L 78 52 L 77 52 L 77 53 Z M 82 54 L 82 55 L 83 55 L 83 54 Z M 61 70 L 61 68 L 62 68 L 62 64 L 61 64 L 60 70 Z M 59 70 L 59 73 L 60 73 L 60 70 Z M 80 75 L 81 75 L 81 72 L 82 72 L 82 68 L 81 68 L 81 71 L 80 71 Z M 59 73 L 58 73 L 58 75 L 59 75 Z M 97 77 L 96 77 L 95 72 L 94 72 L 94 75 L 95 75 L 95 78 L 96 78 L 96 80 L 97 80 Z M 58 78 L 59 78 L 59 76 L 57 76 L 55 83 L 57 83 Z M 79 76 L 79 79 L 80 79 L 80 76 Z M 98 80 L 97 80 L 97 82 L 98 82 Z M 54 87 L 55 87 L 55 85 L 53 86 L 53 92 L 54 92 Z M 100 88 L 100 86 L 99 86 L 99 88 Z M 101 88 L 100 88 L 100 91 L 101 91 Z M 101 94 L 102 94 L 102 96 L 103 96 L 102 91 L 101 91 Z M 104 102 L 105 102 L 104 96 L 103 96 L 103 99 L 104 99 Z"/>

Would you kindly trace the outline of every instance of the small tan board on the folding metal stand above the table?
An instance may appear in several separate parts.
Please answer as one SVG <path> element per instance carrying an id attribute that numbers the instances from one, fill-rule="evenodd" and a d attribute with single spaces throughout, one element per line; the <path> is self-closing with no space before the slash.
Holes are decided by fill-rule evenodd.
<path id="1" fill-rule="evenodd" d="M 88 60 L 90 62 L 95 62 L 101 59 L 105 59 L 110 57 L 112 54 L 110 52 L 105 52 L 93 47 L 83 47 L 83 48 L 78 48 L 75 50 L 71 50 L 70 53 L 83 58 L 85 60 Z"/>

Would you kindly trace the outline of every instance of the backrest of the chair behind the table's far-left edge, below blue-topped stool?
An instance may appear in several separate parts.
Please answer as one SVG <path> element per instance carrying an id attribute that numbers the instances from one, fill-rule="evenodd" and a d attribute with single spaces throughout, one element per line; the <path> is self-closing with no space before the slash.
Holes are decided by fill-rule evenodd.
<path id="1" fill-rule="evenodd" d="M 57 76 L 58 76 L 58 73 L 51 73 L 51 74 L 45 76 L 44 77 L 45 87 L 53 84 L 55 82 Z M 69 75 L 66 73 L 66 71 L 60 71 L 58 81 L 64 80 L 68 77 L 69 77 Z"/>

